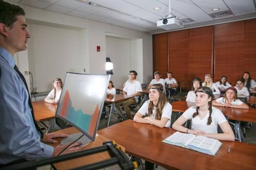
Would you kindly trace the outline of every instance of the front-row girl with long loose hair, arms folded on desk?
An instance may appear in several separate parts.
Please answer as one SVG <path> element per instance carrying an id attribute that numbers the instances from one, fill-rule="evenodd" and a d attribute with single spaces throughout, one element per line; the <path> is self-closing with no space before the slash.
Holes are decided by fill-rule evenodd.
<path id="1" fill-rule="evenodd" d="M 158 127 L 170 127 L 173 107 L 166 99 L 162 84 L 153 84 L 149 89 L 148 97 L 149 100 L 143 103 L 134 116 L 134 121 Z"/>

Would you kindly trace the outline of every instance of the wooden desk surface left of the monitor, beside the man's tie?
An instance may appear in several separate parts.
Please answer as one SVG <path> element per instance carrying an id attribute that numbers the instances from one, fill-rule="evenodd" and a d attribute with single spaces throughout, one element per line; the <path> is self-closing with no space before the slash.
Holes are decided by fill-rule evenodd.
<path id="1" fill-rule="evenodd" d="M 36 121 L 53 119 L 57 110 L 57 104 L 46 103 L 45 101 L 32 102 Z"/>

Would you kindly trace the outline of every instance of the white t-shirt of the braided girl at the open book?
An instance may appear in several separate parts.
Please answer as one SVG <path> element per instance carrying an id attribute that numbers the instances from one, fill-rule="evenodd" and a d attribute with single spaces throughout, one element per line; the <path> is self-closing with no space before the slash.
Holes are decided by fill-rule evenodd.
<path id="1" fill-rule="evenodd" d="M 223 113 L 220 110 L 218 110 L 218 108 L 212 107 L 212 109 L 213 109 L 213 112 L 211 113 L 210 125 L 207 125 L 209 112 L 203 119 L 200 119 L 198 115 L 192 118 L 192 115 L 197 111 L 195 106 L 188 108 L 182 114 L 182 116 L 184 116 L 186 119 L 192 119 L 191 121 L 192 130 L 198 129 L 198 130 L 204 131 L 205 133 L 218 133 L 218 124 L 221 124 L 227 121 L 227 119 L 225 118 Z"/>

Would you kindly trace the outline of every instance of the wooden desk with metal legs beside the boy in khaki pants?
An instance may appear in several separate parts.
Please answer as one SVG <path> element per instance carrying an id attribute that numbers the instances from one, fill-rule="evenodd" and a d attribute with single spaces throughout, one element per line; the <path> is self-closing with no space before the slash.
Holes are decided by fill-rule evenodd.
<path id="1" fill-rule="evenodd" d="M 108 118 L 108 125 L 107 125 L 107 127 L 109 126 L 109 122 L 110 122 L 110 119 L 111 119 L 111 114 L 114 113 L 114 110 L 117 111 L 119 116 L 122 116 L 122 118 L 125 119 L 124 115 L 122 115 L 122 113 L 119 113 L 119 110 L 116 109 L 116 103 L 117 102 L 121 102 L 122 100 L 130 99 L 130 98 L 132 98 L 132 96 L 122 95 L 122 94 L 115 94 L 113 99 L 108 99 L 106 97 L 105 102 L 106 103 L 111 103 L 111 108 L 110 108 L 110 111 L 109 111 L 109 118 Z"/>

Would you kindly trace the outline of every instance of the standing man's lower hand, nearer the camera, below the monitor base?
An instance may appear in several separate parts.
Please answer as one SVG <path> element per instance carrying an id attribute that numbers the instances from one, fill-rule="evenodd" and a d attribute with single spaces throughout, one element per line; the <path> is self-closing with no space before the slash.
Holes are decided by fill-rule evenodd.
<path id="1" fill-rule="evenodd" d="M 72 152 L 78 152 L 78 151 L 82 150 L 82 148 L 83 148 L 83 147 L 80 147 L 80 145 L 82 145 L 81 142 L 75 142 L 74 144 L 71 144 L 69 147 L 67 147 L 69 144 L 70 143 L 59 144 L 57 147 L 54 147 L 53 156 L 64 155 L 64 154 L 72 153 Z M 59 154 L 59 153 L 61 153 L 61 154 Z"/>

